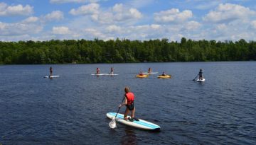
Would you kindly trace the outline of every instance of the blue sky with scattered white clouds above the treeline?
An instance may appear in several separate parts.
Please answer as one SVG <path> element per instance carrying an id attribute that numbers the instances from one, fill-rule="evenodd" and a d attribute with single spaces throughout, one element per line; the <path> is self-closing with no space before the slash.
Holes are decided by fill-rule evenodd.
<path id="1" fill-rule="evenodd" d="M 4 0 L 0 40 L 255 40 L 255 0 Z"/>

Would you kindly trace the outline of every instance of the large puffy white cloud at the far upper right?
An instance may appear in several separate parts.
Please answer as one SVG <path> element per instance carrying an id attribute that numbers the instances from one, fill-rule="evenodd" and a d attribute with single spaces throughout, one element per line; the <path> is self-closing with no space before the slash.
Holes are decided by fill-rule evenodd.
<path id="1" fill-rule="evenodd" d="M 238 4 L 220 4 L 215 11 L 210 11 L 203 21 L 210 23 L 230 23 L 235 20 L 244 20 L 255 15 L 255 11 Z"/>

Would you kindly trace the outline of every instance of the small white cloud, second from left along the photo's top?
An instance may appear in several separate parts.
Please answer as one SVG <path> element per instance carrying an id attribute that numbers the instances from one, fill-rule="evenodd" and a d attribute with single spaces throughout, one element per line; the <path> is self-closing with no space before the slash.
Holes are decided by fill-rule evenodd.
<path id="1" fill-rule="evenodd" d="M 90 14 L 98 13 L 99 8 L 100 8 L 99 4 L 92 3 L 92 4 L 80 6 L 78 9 L 73 8 L 70 10 L 69 13 L 72 15 L 90 15 Z"/>

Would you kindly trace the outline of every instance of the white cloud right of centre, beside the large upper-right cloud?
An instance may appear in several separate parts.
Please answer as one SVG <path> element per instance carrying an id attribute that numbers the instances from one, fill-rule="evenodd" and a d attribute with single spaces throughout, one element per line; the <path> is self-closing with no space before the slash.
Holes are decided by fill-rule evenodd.
<path id="1" fill-rule="evenodd" d="M 154 21 L 157 23 L 183 23 L 193 16 L 192 11 L 185 10 L 180 12 L 178 8 L 171 8 L 167 11 L 154 13 Z"/>

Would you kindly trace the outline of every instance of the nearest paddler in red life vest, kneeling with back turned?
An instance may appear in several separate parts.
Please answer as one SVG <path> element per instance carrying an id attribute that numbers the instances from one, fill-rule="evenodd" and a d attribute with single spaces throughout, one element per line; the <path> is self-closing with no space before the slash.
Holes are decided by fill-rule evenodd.
<path id="1" fill-rule="evenodd" d="M 119 108 L 121 108 L 123 105 L 126 105 L 126 109 L 124 112 L 124 120 L 129 120 L 130 122 L 133 122 L 134 120 L 139 121 L 137 118 L 134 117 L 135 115 L 135 105 L 134 105 L 134 93 L 130 92 L 129 87 L 124 88 L 124 103 L 119 105 Z M 131 112 L 131 117 L 128 118 L 127 115 Z"/>

